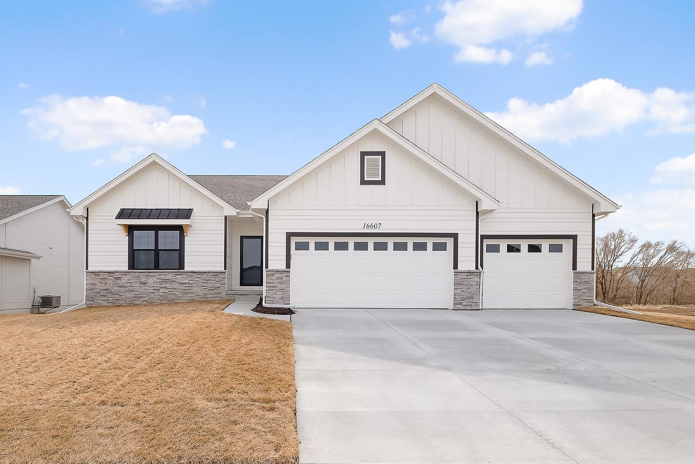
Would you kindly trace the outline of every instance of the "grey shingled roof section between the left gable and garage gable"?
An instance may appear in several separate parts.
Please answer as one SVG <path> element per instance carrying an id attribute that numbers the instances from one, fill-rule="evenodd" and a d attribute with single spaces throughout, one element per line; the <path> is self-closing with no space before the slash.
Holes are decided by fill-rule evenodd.
<path id="1" fill-rule="evenodd" d="M 272 187 L 286 175 L 190 175 L 198 184 L 218 195 L 239 211 L 249 209 L 248 203 Z"/>

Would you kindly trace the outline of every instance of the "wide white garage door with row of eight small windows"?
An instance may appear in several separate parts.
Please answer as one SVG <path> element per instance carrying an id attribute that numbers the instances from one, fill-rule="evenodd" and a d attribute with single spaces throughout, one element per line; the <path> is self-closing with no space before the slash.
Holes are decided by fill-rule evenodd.
<path id="1" fill-rule="evenodd" d="M 303 238 L 291 242 L 296 307 L 451 308 L 449 238 Z"/>

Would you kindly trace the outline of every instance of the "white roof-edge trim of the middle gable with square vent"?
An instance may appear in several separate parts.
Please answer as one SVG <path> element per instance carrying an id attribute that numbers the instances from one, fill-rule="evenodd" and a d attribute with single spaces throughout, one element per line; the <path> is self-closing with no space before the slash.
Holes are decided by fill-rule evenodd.
<path id="1" fill-rule="evenodd" d="M 459 173 L 455 172 L 455 170 L 452 170 L 441 161 L 432 157 L 422 148 L 418 147 L 404 136 L 398 134 L 398 132 L 391 129 L 391 127 L 385 125 L 384 122 L 382 122 L 381 120 L 375 119 L 368 122 L 366 125 L 353 132 L 352 134 L 350 134 L 350 136 L 347 136 L 347 138 L 344 138 L 342 141 L 338 142 L 333 147 L 329 148 L 329 150 L 327 150 L 326 152 L 323 152 L 318 157 L 309 161 L 309 163 L 306 163 L 304 166 L 302 166 L 302 168 L 299 168 L 293 174 L 286 177 L 286 179 L 282 180 L 277 185 L 272 187 L 272 189 L 266 191 L 262 195 L 259 195 L 258 198 L 251 202 L 251 207 L 265 209 L 265 207 L 267 207 L 268 205 L 268 200 L 270 200 L 272 195 L 279 193 L 287 186 L 293 184 L 295 180 L 300 179 L 300 177 L 308 173 L 310 170 L 317 168 L 322 163 L 328 161 L 331 157 L 333 157 L 334 154 L 340 152 L 357 139 L 361 138 L 362 136 L 365 136 L 370 131 L 374 130 L 381 132 L 382 134 L 384 134 L 384 136 L 390 138 L 391 141 L 400 145 L 405 150 L 408 150 L 411 154 L 414 154 L 422 161 L 425 161 L 425 163 L 430 165 L 432 168 L 439 170 L 439 172 L 443 174 L 445 177 L 448 177 L 448 179 L 450 179 L 452 182 L 461 186 L 462 189 L 468 191 L 468 193 L 471 193 L 471 195 L 480 200 L 481 210 L 491 211 L 493 209 L 497 209 L 500 206 L 500 202 L 493 198 L 492 195 L 490 195 L 486 191 L 483 191 L 482 189 L 480 189 L 480 187 L 476 186 L 472 182 L 468 181 L 468 179 L 465 179 L 464 177 L 459 175 Z"/>

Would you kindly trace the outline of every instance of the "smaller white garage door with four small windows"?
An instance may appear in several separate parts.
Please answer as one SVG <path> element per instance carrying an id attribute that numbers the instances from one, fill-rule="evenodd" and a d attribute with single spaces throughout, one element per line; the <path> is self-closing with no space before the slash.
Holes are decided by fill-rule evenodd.
<path id="1" fill-rule="evenodd" d="M 572 242 L 483 242 L 482 307 L 571 307 Z"/>

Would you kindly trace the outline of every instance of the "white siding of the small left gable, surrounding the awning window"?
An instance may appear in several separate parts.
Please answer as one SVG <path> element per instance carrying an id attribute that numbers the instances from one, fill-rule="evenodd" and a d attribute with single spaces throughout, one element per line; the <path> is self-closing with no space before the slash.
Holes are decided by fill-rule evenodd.
<path id="1" fill-rule="evenodd" d="M 89 205 L 90 271 L 128 269 L 128 237 L 115 222 L 121 208 L 193 208 L 185 239 L 186 269 L 224 269 L 222 208 L 169 170 L 153 163 Z"/>

